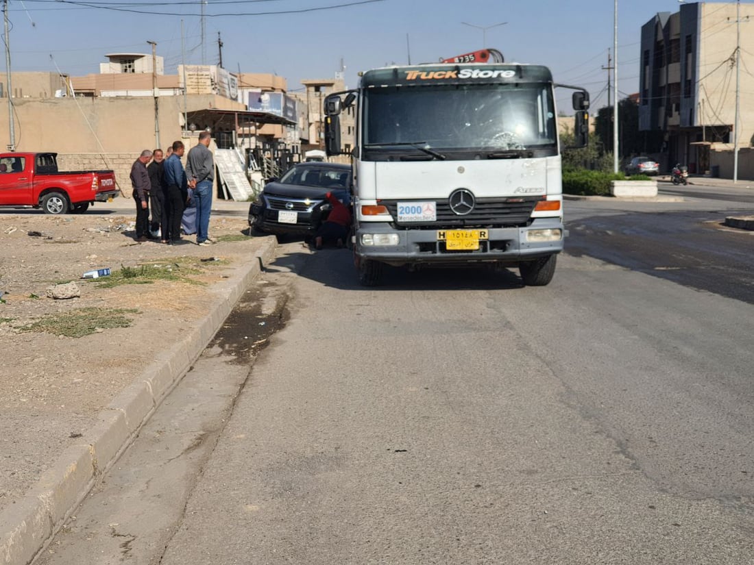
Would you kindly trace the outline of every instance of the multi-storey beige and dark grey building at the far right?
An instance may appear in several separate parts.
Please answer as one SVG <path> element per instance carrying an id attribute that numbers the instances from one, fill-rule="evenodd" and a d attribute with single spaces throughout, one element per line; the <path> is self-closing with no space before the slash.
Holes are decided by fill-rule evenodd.
<path id="1" fill-rule="evenodd" d="M 742 19 L 749 7 L 743 5 Z M 732 158 L 719 153 L 734 143 L 736 10 L 733 2 L 682 4 L 642 26 L 639 130 L 664 132 L 665 168 L 681 162 L 691 173 L 733 176 Z M 754 91 L 754 75 L 744 66 L 747 53 L 754 53 L 754 35 L 746 25 L 740 35 L 741 148 L 751 145 L 754 134 L 754 105 L 745 94 Z M 741 164 L 739 176 L 754 179 L 754 166 Z"/>

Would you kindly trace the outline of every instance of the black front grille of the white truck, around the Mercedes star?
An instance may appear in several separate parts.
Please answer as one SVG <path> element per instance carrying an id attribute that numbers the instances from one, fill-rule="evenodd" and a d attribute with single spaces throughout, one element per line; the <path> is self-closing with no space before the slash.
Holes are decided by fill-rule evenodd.
<path id="1" fill-rule="evenodd" d="M 464 227 L 505 227 L 522 226 L 529 222 L 532 211 L 541 197 L 528 198 L 478 198 L 474 210 L 467 215 L 455 215 L 447 200 L 437 200 L 437 221 L 395 221 L 401 228 L 442 228 L 450 226 Z M 411 202 L 411 200 L 400 200 Z M 388 208 L 393 218 L 398 217 L 398 201 L 382 200 L 380 203 Z"/>

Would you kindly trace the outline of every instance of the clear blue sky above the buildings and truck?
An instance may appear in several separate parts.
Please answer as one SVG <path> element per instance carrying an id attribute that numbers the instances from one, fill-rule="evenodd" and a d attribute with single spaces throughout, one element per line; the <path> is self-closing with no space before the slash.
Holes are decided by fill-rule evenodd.
<path id="1" fill-rule="evenodd" d="M 156 41 L 165 72 L 174 73 L 183 21 L 186 63 L 218 63 L 219 32 L 231 72 L 274 73 L 296 90 L 302 79 L 332 77 L 343 64 L 354 87 L 360 70 L 407 63 L 409 53 L 412 63 L 467 53 L 482 48 L 486 35 L 486 46 L 507 61 L 547 65 L 556 81 L 587 87 L 593 109 L 607 103 L 608 72 L 601 67 L 613 45 L 613 0 L 207 0 L 204 47 L 201 4 L 9 0 L 11 69 L 87 75 L 99 72 L 105 53 L 151 53 L 146 42 Z M 754 16 L 754 6 L 746 8 Z M 639 90 L 642 24 L 678 9 L 679 0 L 618 0 L 621 98 Z M 270 12 L 277 14 L 260 14 Z M 560 109 L 570 110 L 569 97 L 563 90 Z"/>

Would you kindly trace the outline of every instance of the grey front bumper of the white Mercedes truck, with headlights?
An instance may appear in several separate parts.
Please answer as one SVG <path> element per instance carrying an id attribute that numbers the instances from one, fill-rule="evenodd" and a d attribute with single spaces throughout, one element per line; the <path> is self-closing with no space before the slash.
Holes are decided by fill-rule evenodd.
<path id="1" fill-rule="evenodd" d="M 559 239 L 537 241 L 527 235 L 528 232 L 541 230 L 559 230 Z M 396 230 L 390 224 L 365 222 L 360 224 L 356 231 L 354 249 L 360 257 L 396 266 L 421 263 L 461 265 L 483 262 L 518 265 L 521 261 L 561 252 L 566 236 L 560 218 L 537 218 L 525 228 L 492 228 L 488 231 L 489 239 L 480 241 L 480 249 L 447 251 L 445 243 L 437 240 L 437 230 Z M 363 245 L 363 234 L 397 234 L 398 244 L 394 246 Z"/>

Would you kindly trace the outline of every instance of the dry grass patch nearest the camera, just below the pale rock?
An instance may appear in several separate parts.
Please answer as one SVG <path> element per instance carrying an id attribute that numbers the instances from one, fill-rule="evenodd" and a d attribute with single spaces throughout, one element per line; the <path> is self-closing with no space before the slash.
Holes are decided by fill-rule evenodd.
<path id="1" fill-rule="evenodd" d="M 97 329 L 128 328 L 131 319 L 126 314 L 137 314 L 139 310 L 123 308 L 78 308 L 62 314 L 50 314 L 21 331 L 38 331 L 66 337 L 84 337 L 97 332 Z"/>

